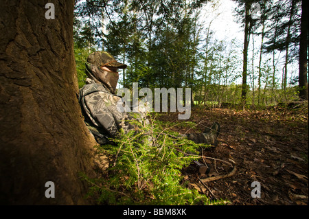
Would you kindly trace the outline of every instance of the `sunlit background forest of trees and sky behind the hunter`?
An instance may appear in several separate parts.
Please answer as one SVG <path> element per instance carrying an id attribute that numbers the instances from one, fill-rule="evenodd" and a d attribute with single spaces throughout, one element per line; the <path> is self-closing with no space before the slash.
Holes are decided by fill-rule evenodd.
<path id="1" fill-rule="evenodd" d="M 232 20 L 220 23 L 222 8 Z M 192 104 L 219 107 L 308 100 L 307 65 L 299 68 L 308 60 L 308 19 L 299 55 L 304 13 L 299 0 L 76 1 L 78 82 L 87 56 L 104 49 L 128 65 L 119 87 L 190 87 Z M 220 35 L 218 24 L 238 34 Z"/>

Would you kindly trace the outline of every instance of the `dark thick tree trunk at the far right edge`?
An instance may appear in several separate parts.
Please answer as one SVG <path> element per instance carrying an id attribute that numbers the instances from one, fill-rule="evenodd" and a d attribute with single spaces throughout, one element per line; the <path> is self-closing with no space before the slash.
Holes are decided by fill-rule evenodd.
<path id="1" fill-rule="evenodd" d="M 308 1 L 301 1 L 301 36 L 299 42 L 299 97 L 308 100 Z"/>

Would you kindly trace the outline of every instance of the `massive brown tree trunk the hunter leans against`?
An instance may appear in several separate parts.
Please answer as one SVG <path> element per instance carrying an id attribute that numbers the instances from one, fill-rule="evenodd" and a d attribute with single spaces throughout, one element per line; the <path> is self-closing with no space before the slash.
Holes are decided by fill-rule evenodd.
<path id="1" fill-rule="evenodd" d="M 84 205 L 95 141 L 76 93 L 73 0 L 1 0 L 0 203 Z M 47 181 L 55 198 L 46 198 Z"/>

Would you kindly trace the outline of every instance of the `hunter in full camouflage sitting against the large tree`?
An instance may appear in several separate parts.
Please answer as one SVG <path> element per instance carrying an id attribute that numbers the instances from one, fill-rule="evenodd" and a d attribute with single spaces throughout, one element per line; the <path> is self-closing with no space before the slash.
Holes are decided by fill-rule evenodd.
<path id="1" fill-rule="evenodd" d="M 87 84 L 80 89 L 79 102 L 84 122 L 101 145 L 107 143 L 109 138 L 117 137 L 120 128 L 125 132 L 135 128 L 128 121 L 138 119 L 117 109 L 119 100 L 122 100 L 122 97 L 115 95 L 119 79 L 118 69 L 126 67 L 106 51 L 93 52 L 86 62 Z M 142 114 L 139 116 L 144 117 Z M 214 122 L 211 128 L 206 128 L 203 133 L 187 134 L 185 137 L 195 143 L 216 146 L 219 132 L 220 126 Z"/>

